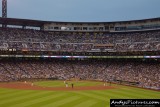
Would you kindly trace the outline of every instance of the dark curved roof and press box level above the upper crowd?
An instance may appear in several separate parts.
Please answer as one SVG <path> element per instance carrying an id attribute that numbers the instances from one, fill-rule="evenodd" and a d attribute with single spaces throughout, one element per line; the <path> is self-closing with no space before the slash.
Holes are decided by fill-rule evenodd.
<path id="1" fill-rule="evenodd" d="M 58 22 L 2 18 L 0 26 L 68 32 L 130 32 L 160 29 L 160 18 L 116 22 Z"/>

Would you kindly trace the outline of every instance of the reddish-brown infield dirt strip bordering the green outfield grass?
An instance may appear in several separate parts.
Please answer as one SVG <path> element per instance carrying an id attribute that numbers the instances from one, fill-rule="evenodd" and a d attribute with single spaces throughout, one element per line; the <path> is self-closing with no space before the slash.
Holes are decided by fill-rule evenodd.
<path id="1" fill-rule="evenodd" d="M 80 86 L 74 88 L 72 87 L 42 87 L 36 86 L 31 83 L 1 83 L 1 88 L 9 88 L 9 89 L 20 89 L 20 90 L 47 90 L 47 91 L 81 91 L 81 90 L 108 90 L 108 89 L 116 89 L 114 86 Z"/>

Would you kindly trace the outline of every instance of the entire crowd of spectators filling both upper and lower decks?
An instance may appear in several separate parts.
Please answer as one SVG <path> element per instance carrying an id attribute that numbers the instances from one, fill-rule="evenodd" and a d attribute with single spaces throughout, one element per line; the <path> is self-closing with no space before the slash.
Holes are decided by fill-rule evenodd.
<path id="1" fill-rule="evenodd" d="M 159 51 L 160 31 L 125 33 L 45 32 L 0 28 L 0 49 L 27 51 Z M 160 89 L 160 64 L 105 61 L 5 61 L 0 81 L 23 78 L 98 79 L 138 82 L 139 87 Z"/>

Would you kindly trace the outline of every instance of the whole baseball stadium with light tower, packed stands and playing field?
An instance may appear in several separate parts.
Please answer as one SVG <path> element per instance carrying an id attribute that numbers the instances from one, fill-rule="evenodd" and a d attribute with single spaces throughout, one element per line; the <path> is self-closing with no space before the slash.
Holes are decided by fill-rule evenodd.
<path id="1" fill-rule="evenodd" d="M 7 18 L 2 0 L 0 38 L 0 107 L 110 107 L 110 99 L 160 99 L 160 18 Z"/>

